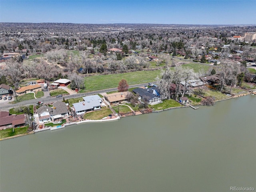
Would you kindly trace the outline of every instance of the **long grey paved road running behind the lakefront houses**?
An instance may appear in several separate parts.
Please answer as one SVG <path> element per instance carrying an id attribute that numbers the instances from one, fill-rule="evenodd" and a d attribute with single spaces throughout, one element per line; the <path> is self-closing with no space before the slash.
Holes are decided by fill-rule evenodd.
<path id="1" fill-rule="evenodd" d="M 152 82 L 152 83 L 155 84 L 156 82 Z M 129 88 L 142 87 L 144 85 L 148 85 L 148 83 L 130 85 Z M 64 96 L 64 98 L 65 99 L 78 98 L 78 97 L 100 94 L 100 93 L 103 93 L 103 92 L 112 92 L 112 91 L 117 91 L 117 88 L 109 88 L 109 89 L 92 91 L 92 92 L 87 92 L 87 93 L 78 93 L 78 94 L 73 94 L 73 95 L 67 95 L 67 96 Z M 50 96 L 48 96 L 46 98 L 41 97 L 41 98 L 38 98 L 38 99 L 32 99 L 32 100 L 26 100 L 26 101 L 18 102 L 16 104 L 8 104 L 7 102 L 4 102 L 4 103 L 0 104 L 0 110 L 10 110 L 11 108 L 14 108 L 16 106 L 34 105 L 38 101 L 44 102 L 44 103 L 54 103 L 56 101 L 63 101 L 63 97 L 60 97 L 60 98 L 55 98 L 55 97 L 52 98 Z"/>

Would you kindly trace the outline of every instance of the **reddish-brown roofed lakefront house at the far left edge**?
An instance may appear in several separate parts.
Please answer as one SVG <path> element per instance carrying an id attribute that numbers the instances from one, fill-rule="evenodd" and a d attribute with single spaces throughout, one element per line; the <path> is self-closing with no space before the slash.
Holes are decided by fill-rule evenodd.
<path id="1" fill-rule="evenodd" d="M 26 123 L 26 114 L 9 115 L 9 112 L 0 112 L 0 130 L 24 126 Z"/>

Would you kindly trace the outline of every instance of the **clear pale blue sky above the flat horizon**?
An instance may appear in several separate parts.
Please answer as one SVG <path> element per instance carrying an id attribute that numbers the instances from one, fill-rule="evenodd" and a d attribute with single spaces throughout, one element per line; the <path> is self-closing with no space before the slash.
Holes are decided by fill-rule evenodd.
<path id="1" fill-rule="evenodd" d="M 256 24 L 256 0 L 0 0 L 0 22 Z"/>

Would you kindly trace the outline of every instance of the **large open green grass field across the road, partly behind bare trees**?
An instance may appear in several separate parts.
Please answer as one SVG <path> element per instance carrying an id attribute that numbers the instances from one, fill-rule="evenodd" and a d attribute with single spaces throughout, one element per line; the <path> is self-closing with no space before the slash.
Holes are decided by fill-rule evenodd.
<path id="1" fill-rule="evenodd" d="M 204 66 L 200 64 L 185 64 L 183 67 L 193 68 L 194 71 L 198 71 L 199 69 L 208 70 L 209 66 Z M 118 83 L 120 80 L 125 79 L 128 85 L 140 84 L 140 83 L 148 83 L 155 81 L 157 76 L 160 76 L 161 70 L 153 70 L 153 71 L 136 71 L 136 72 L 128 72 L 123 74 L 109 74 L 109 75 L 94 75 L 88 76 L 84 78 L 86 90 L 85 92 L 114 88 L 118 87 Z"/>

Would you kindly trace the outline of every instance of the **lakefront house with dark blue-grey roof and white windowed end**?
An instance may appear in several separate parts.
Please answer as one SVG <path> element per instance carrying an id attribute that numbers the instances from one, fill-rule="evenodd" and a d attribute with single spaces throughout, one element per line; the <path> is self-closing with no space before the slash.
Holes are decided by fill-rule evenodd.
<path id="1" fill-rule="evenodd" d="M 153 93 L 150 93 L 149 89 L 143 89 L 143 88 L 136 88 L 132 90 L 134 93 L 138 94 L 141 98 L 141 100 L 146 100 L 148 104 L 154 105 L 161 102 L 160 96 L 154 95 Z M 154 90 L 152 92 L 156 93 Z"/>

